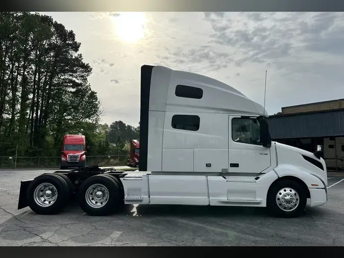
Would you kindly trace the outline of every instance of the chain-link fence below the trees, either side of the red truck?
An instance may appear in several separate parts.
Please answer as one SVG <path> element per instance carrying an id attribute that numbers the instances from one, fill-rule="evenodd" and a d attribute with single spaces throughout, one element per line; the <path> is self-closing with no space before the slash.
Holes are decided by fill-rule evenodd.
<path id="1" fill-rule="evenodd" d="M 129 155 L 86 156 L 86 166 L 125 166 Z M 59 168 L 61 157 L 0 157 L 0 168 Z"/>

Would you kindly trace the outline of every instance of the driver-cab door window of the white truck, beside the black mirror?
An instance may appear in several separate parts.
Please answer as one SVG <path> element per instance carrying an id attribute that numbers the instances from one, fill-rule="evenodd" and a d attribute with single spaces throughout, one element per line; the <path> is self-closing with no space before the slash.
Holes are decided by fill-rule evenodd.
<path id="1" fill-rule="evenodd" d="M 259 137 L 259 122 L 257 119 L 232 119 L 232 139 L 234 142 L 260 145 Z"/>

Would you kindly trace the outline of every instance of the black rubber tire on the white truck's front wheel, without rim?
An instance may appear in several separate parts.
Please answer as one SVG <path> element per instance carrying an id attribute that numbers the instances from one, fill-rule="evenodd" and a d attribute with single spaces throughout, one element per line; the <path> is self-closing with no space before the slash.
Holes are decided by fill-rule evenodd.
<path id="1" fill-rule="evenodd" d="M 284 188 L 289 188 L 292 190 L 291 193 L 295 196 L 295 201 L 299 201 L 296 209 L 294 207 L 285 207 L 282 203 L 278 204 L 277 201 L 280 201 L 280 198 L 277 199 L 277 194 L 283 196 L 286 193 L 289 193 L 287 190 L 281 191 Z M 294 193 L 296 191 L 296 193 Z M 296 218 L 299 217 L 306 208 L 307 204 L 307 195 L 303 186 L 298 182 L 290 179 L 282 179 L 274 183 L 268 192 L 267 197 L 267 208 L 271 215 L 281 218 Z M 281 207 L 281 208 L 280 208 Z"/>

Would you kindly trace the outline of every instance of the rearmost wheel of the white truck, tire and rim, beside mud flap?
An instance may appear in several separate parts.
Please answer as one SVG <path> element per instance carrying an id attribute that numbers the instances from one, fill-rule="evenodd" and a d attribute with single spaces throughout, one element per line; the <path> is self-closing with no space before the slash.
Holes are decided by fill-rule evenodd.
<path id="1" fill-rule="evenodd" d="M 31 210 L 37 214 L 57 214 L 68 204 L 69 188 L 62 177 L 43 174 L 29 185 L 27 200 Z"/>

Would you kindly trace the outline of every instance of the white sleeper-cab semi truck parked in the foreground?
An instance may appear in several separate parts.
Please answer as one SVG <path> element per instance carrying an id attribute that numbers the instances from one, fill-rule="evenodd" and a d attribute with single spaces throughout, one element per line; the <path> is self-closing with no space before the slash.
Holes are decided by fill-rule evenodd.
<path id="1" fill-rule="evenodd" d="M 55 214 L 77 196 L 92 216 L 122 204 L 267 207 L 297 217 L 327 201 L 322 146 L 314 153 L 272 142 L 264 108 L 199 74 L 141 67 L 140 164 L 98 165 L 21 182 L 18 209 Z M 295 129 L 297 130 L 297 128 Z"/>

